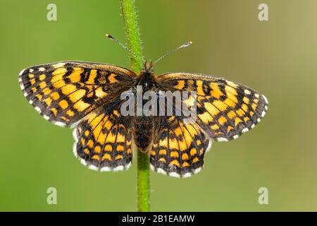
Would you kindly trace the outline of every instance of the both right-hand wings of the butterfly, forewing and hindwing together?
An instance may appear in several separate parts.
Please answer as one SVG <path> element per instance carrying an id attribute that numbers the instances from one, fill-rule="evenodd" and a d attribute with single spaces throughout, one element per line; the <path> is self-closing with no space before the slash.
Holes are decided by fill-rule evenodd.
<path id="1" fill-rule="evenodd" d="M 180 117 L 162 118 L 150 153 L 154 171 L 190 177 L 204 166 L 212 141 L 230 141 L 253 129 L 268 109 L 264 95 L 222 78 L 192 73 L 158 76 L 161 90 L 195 91 L 197 118 L 184 124 Z M 187 107 L 192 95 L 183 100 Z"/>

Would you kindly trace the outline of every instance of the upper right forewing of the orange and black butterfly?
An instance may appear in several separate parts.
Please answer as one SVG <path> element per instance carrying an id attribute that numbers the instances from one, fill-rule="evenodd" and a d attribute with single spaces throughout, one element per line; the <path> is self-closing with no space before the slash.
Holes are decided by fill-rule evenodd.
<path id="1" fill-rule="evenodd" d="M 264 95 L 222 78 L 166 73 L 158 80 L 164 89 L 196 92 L 196 122 L 215 141 L 230 141 L 253 129 L 268 109 Z"/>

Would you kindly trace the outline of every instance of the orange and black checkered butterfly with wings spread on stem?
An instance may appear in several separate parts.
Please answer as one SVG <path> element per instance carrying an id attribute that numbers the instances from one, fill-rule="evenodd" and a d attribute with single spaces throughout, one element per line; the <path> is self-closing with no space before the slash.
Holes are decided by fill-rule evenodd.
<path id="1" fill-rule="evenodd" d="M 137 74 L 111 64 L 60 61 L 24 69 L 19 83 L 44 119 L 75 128 L 73 153 L 83 165 L 101 172 L 128 169 L 132 146 L 137 146 L 149 153 L 156 172 L 190 177 L 202 169 L 212 141 L 238 138 L 268 109 L 266 97 L 244 85 L 194 73 L 155 76 L 152 66 L 144 63 Z M 136 95 L 137 85 L 158 95 L 168 90 L 196 92 L 196 120 L 185 123 L 182 115 L 123 116 L 120 95 Z"/>

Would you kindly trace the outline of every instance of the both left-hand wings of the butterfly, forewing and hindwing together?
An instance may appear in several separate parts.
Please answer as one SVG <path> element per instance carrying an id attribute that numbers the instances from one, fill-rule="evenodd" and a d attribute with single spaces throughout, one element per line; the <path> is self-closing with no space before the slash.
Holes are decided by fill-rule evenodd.
<path id="1" fill-rule="evenodd" d="M 129 120 L 120 115 L 117 99 L 135 79 L 128 69 L 82 61 L 33 66 L 19 75 L 20 88 L 30 104 L 53 124 L 77 126 L 75 156 L 89 168 L 102 171 L 131 164 Z"/>

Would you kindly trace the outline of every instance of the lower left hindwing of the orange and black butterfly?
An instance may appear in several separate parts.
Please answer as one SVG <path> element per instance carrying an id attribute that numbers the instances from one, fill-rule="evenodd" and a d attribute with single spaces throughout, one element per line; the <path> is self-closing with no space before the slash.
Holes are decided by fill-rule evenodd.
<path id="1" fill-rule="evenodd" d="M 89 169 L 118 171 L 132 163 L 131 119 L 120 114 L 113 102 L 101 112 L 92 112 L 74 130 L 74 154 Z"/>

